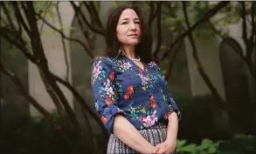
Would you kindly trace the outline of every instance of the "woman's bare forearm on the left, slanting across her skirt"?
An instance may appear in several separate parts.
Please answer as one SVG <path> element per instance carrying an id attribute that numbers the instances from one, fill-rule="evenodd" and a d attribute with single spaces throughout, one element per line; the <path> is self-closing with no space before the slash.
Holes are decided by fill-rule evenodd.
<path id="1" fill-rule="evenodd" d="M 114 118 L 114 135 L 135 151 L 140 153 L 154 152 L 155 147 L 142 137 L 134 125 L 120 115 Z"/>

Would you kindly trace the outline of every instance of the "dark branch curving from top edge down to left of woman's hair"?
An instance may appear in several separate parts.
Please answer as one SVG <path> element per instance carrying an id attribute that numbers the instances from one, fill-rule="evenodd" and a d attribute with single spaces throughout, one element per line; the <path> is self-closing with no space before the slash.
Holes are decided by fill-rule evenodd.
<path id="1" fill-rule="evenodd" d="M 88 20 L 86 19 L 85 15 L 81 12 L 80 7 L 78 7 L 73 1 L 70 1 L 70 3 L 73 6 L 73 10 L 75 12 L 77 12 L 78 15 L 80 15 L 80 17 L 86 23 L 86 25 L 89 27 L 90 30 L 92 30 L 93 32 L 98 33 L 98 34 L 100 34 L 102 36 L 105 35 L 105 31 L 104 30 L 98 30 L 98 29 L 94 28 L 91 23 L 88 22 Z"/>

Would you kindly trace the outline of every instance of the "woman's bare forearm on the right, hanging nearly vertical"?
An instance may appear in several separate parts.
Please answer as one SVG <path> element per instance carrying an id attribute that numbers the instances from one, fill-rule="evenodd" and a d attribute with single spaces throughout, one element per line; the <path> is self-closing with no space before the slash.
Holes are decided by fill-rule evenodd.
<path id="1" fill-rule="evenodd" d="M 176 142 L 177 131 L 178 131 L 178 118 L 175 111 L 173 111 L 168 117 L 168 128 L 167 128 L 167 142 Z"/>

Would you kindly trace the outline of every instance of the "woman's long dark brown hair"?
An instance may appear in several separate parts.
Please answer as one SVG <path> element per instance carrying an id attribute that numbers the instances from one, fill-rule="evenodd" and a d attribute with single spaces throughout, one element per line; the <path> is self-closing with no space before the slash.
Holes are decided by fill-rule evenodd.
<path id="1" fill-rule="evenodd" d="M 120 49 L 120 42 L 116 36 L 116 26 L 121 16 L 121 12 L 126 9 L 135 10 L 140 19 L 140 27 L 142 30 L 140 43 L 135 46 L 135 53 L 141 57 L 142 62 L 149 63 L 152 61 L 152 36 L 149 26 L 144 23 L 141 11 L 135 6 L 119 6 L 112 11 L 107 19 L 107 27 L 105 33 L 105 42 L 107 44 L 104 56 L 116 57 Z"/>

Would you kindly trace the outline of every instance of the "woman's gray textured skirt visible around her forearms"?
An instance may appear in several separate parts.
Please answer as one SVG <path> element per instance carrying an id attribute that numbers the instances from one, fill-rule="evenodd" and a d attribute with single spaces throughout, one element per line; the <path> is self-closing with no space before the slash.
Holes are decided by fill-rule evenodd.
<path id="1" fill-rule="evenodd" d="M 157 124 L 149 129 L 139 130 L 142 137 L 147 139 L 149 143 L 156 146 L 165 141 L 167 137 L 167 124 Z M 133 149 L 129 148 L 126 144 L 123 144 L 121 140 L 111 134 L 107 143 L 107 154 L 126 154 L 137 153 Z"/>

